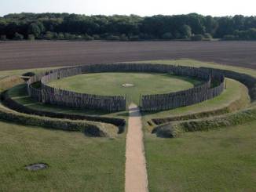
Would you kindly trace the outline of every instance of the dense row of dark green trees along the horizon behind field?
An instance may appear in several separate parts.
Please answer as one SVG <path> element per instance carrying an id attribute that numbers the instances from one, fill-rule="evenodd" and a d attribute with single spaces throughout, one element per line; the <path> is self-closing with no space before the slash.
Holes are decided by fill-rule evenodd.
<path id="1" fill-rule="evenodd" d="M 85 16 L 19 13 L 0 17 L 0 40 L 69 39 L 138 41 L 153 39 L 256 40 L 256 16 Z"/>

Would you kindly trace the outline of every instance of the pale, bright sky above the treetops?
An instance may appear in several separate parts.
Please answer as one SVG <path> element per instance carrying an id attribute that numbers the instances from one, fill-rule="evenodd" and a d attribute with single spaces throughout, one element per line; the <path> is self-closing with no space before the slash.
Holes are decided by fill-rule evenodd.
<path id="1" fill-rule="evenodd" d="M 256 0 L 0 0 L 0 16 L 9 13 L 78 13 L 85 15 L 256 15 Z"/>

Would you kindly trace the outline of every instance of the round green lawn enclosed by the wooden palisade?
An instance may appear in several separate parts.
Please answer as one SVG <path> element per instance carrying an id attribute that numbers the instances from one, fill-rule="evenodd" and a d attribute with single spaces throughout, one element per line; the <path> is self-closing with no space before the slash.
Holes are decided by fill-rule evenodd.
<path id="1" fill-rule="evenodd" d="M 129 89 L 123 85 L 133 84 Z M 140 95 L 177 92 L 199 85 L 199 79 L 159 73 L 93 73 L 79 74 L 50 82 L 49 85 L 73 92 L 102 96 L 126 96 L 128 102 L 139 103 Z"/>

